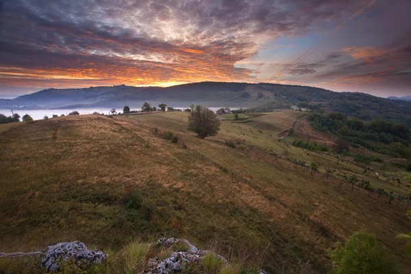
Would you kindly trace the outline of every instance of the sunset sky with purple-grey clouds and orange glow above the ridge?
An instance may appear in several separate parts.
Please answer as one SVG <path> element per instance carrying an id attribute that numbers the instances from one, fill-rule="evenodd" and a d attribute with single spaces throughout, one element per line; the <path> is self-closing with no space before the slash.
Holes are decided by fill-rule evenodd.
<path id="1" fill-rule="evenodd" d="M 411 0 L 0 0 L 0 98 L 269 82 L 411 95 Z"/>

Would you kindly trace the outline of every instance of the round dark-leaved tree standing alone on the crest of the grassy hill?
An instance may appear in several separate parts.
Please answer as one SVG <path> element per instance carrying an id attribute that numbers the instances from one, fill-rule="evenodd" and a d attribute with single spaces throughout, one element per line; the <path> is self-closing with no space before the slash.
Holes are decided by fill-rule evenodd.
<path id="1" fill-rule="evenodd" d="M 220 130 L 220 123 L 212 110 L 201 105 L 197 105 L 188 116 L 188 130 L 197 133 L 200 138 L 216 135 Z"/>

